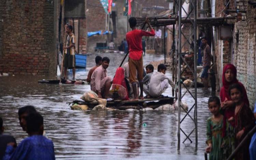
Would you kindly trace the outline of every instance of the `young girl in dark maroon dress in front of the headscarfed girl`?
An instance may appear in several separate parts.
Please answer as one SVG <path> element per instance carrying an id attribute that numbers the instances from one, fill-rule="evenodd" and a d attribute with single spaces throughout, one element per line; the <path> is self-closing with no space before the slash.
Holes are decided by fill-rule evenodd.
<path id="1" fill-rule="evenodd" d="M 229 96 L 231 97 L 232 101 L 234 101 L 236 108 L 234 112 L 234 120 L 235 123 L 235 147 L 237 147 L 247 133 L 254 127 L 255 119 L 253 116 L 252 110 L 249 106 L 244 102 L 243 99 L 243 89 L 240 84 L 235 83 L 229 87 Z M 249 145 L 250 139 L 247 140 L 245 145 L 238 151 L 235 156 L 235 160 L 249 160 Z"/>

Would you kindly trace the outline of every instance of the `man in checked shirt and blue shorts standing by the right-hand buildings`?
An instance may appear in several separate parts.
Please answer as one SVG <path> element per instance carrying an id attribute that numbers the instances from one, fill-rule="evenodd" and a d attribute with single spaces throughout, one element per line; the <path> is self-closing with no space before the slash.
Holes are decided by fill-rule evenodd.
<path id="1" fill-rule="evenodd" d="M 204 85 L 204 89 L 208 89 L 208 70 L 211 66 L 211 47 L 207 44 L 206 37 L 202 37 L 202 49 L 203 49 L 203 72 L 201 79 Z"/>

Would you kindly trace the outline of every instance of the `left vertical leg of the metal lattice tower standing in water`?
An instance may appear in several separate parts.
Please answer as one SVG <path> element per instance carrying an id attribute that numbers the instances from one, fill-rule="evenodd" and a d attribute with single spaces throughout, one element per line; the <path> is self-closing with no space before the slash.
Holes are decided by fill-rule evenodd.
<path id="1" fill-rule="evenodd" d="M 178 148 L 180 148 L 181 142 L 181 0 L 179 0 L 179 39 L 178 39 Z"/>

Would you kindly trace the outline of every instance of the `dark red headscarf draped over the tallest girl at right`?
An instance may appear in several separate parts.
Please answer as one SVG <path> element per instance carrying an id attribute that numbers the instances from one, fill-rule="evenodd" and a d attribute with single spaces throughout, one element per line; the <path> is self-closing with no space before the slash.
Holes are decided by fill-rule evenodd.
<path id="1" fill-rule="evenodd" d="M 232 71 L 232 73 L 234 74 L 234 79 L 231 81 L 231 82 L 228 82 L 225 78 L 225 72 L 230 69 Z M 220 94 L 220 97 L 221 97 L 221 102 L 223 102 L 226 98 L 228 100 L 231 100 L 231 97 L 229 96 L 229 93 L 228 93 L 228 88 L 230 85 L 234 84 L 234 83 L 238 83 L 241 85 L 242 89 L 243 89 L 243 95 L 242 95 L 242 101 L 245 103 L 245 105 L 249 106 L 249 100 L 248 100 L 248 97 L 247 97 L 247 93 L 246 93 L 246 90 L 244 88 L 244 85 L 239 82 L 237 80 L 237 69 L 236 67 L 233 65 L 233 64 L 227 64 L 224 68 L 223 68 L 223 73 L 222 73 L 222 89 L 221 89 L 221 92 L 219 93 Z M 226 132 L 226 120 L 229 119 L 230 117 L 234 117 L 234 107 L 230 107 L 228 109 L 225 110 L 224 112 L 224 118 L 223 118 L 223 132 L 222 132 L 222 136 L 224 137 L 225 136 L 225 132 Z M 235 122 L 232 121 L 230 122 L 230 124 L 235 127 Z"/>

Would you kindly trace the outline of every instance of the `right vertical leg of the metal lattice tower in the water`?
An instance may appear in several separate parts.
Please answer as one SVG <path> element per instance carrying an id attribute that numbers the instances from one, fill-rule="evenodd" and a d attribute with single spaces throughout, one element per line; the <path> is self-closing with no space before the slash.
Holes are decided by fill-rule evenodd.
<path id="1" fill-rule="evenodd" d="M 194 85 L 195 85 L 195 132 L 196 147 L 198 142 L 197 135 L 197 0 L 194 0 Z"/>

